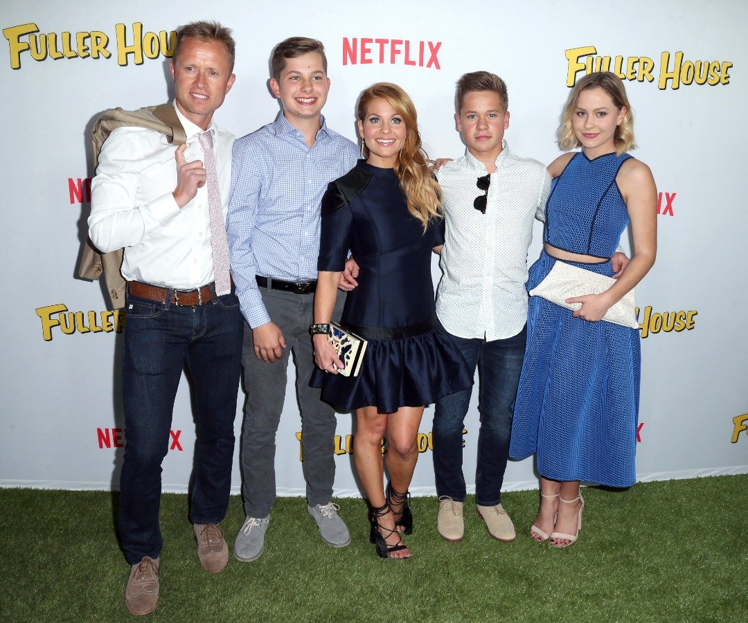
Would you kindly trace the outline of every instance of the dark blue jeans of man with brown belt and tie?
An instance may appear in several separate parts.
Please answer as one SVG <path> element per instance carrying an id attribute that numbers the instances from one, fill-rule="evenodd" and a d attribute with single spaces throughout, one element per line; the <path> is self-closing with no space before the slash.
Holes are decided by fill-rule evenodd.
<path id="1" fill-rule="evenodd" d="M 183 367 L 192 381 L 197 426 L 190 521 L 218 524 L 226 515 L 244 320 L 233 292 L 194 307 L 128 295 L 126 310 L 120 537 L 134 565 L 143 556 L 156 558 L 162 547 L 161 463 Z"/>

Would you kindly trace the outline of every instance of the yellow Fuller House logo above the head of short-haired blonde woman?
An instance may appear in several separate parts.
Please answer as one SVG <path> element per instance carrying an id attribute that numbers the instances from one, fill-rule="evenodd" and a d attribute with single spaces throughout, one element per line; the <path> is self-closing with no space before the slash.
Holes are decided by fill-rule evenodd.
<path id="1" fill-rule="evenodd" d="M 622 80 L 637 82 L 654 82 L 657 88 L 678 89 L 681 85 L 729 85 L 730 61 L 699 59 L 692 61 L 685 58 L 683 52 L 663 52 L 660 54 L 660 66 L 647 56 L 598 56 L 595 46 L 584 46 L 566 50 L 568 68 L 566 86 L 573 87 L 577 75 L 598 71 L 612 71 Z"/>

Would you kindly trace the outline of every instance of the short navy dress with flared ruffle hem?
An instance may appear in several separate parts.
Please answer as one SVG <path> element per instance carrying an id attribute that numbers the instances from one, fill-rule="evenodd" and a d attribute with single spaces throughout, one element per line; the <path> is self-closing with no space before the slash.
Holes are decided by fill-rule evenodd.
<path id="1" fill-rule="evenodd" d="M 473 375 L 436 319 L 432 248 L 443 221 L 423 224 L 408 212 L 393 169 L 363 160 L 322 197 L 320 271 L 342 271 L 349 249 L 360 272 L 340 324 L 368 340 L 355 377 L 317 369 L 313 386 L 341 411 L 380 413 L 417 407 L 470 387 Z"/>

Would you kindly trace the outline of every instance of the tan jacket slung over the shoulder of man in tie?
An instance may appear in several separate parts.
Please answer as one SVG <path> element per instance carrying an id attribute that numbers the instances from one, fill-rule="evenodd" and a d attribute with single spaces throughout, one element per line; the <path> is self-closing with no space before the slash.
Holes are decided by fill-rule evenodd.
<path id="1" fill-rule="evenodd" d="M 187 142 L 187 135 L 177 117 L 177 111 L 171 103 L 159 106 L 147 106 L 137 111 L 126 111 L 122 108 L 110 108 L 105 111 L 91 130 L 93 141 L 93 168 L 99 164 L 99 152 L 114 129 L 127 126 L 152 129 L 165 134 L 174 145 Z M 111 307 L 118 309 L 125 306 L 125 279 L 120 272 L 123 249 L 102 254 L 93 246 L 91 239 L 86 239 L 78 266 L 78 276 L 83 279 L 96 280 L 104 274 L 106 289 L 111 299 Z"/>

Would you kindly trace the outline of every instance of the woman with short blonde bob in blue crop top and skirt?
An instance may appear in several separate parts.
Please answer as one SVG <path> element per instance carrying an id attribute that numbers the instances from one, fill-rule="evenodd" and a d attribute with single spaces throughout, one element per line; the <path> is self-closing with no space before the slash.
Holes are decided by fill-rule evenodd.
<path id="1" fill-rule="evenodd" d="M 630 487 L 639 409 L 639 331 L 601 321 L 647 274 L 657 251 L 657 189 L 635 147 L 634 117 L 621 80 L 593 73 L 565 105 L 548 171 L 545 245 L 530 268 L 532 289 L 556 262 L 613 275 L 610 257 L 631 223 L 631 262 L 606 292 L 568 298 L 571 312 L 530 298 L 527 349 L 512 423 L 512 458 L 536 453 L 541 502 L 530 528 L 556 547 L 577 540 L 584 500 L 580 481 Z"/>

